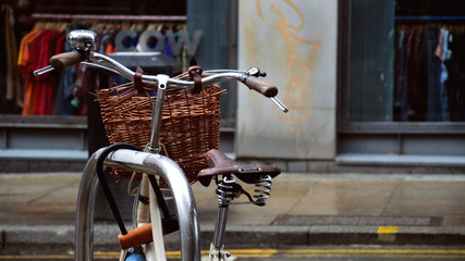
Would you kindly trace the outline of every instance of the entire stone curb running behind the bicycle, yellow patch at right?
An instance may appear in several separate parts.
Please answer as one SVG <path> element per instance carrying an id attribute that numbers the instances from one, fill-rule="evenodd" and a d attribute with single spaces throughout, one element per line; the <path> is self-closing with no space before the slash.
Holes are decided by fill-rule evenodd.
<path id="1" fill-rule="evenodd" d="M 208 249 L 213 235 L 211 225 L 200 225 L 203 249 Z M 34 249 L 39 252 L 70 252 L 74 249 L 74 225 L 0 226 L 2 253 Z M 95 225 L 95 249 L 118 249 L 118 226 Z M 168 235 L 168 248 L 176 246 L 179 234 Z M 429 245 L 465 246 L 463 227 L 405 226 L 383 233 L 377 226 L 228 226 L 227 248 L 269 248 L 322 245 Z M 25 247 L 26 246 L 26 247 Z"/>

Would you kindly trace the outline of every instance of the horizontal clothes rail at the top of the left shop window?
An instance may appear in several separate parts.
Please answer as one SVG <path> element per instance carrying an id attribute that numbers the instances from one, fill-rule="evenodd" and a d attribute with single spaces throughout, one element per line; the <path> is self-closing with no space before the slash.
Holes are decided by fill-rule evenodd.
<path id="1" fill-rule="evenodd" d="M 36 20 L 98 20 L 132 22 L 186 22 L 186 15 L 100 15 L 100 14 L 46 14 L 34 13 Z"/>

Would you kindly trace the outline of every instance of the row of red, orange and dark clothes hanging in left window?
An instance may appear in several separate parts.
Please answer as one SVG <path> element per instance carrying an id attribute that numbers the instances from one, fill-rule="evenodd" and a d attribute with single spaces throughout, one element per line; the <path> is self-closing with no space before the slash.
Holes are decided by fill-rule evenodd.
<path id="1" fill-rule="evenodd" d="M 75 27 L 83 26 L 74 24 Z M 85 26 L 87 28 L 87 26 Z M 99 45 L 96 52 L 109 54 L 117 50 L 114 42 L 115 35 L 132 28 L 136 36 L 129 40 L 129 45 L 136 46 L 140 34 L 144 32 L 143 25 L 133 24 L 122 26 L 114 24 L 94 24 L 91 29 L 99 36 Z M 151 25 L 150 28 L 162 29 L 162 25 Z M 146 27 L 147 29 L 148 27 Z M 70 28 L 71 29 L 71 28 Z M 23 103 L 23 115 L 83 115 L 86 114 L 87 83 L 86 73 L 81 66 L 69 66 L 61 71 L 52 71 L 38 77 L 33 76 L 33 72 L 45 67 L 49 59 L 64 51 L 71 51 L 65 42 L 66 27 L 62 23 L 38 22 L 36 26 L 21 39 L 16 59 L 16 66 L 24 83 L 21 102 Z M 161 44 L 161 42 L 160 42 Z M 168 38 L 164 40 L 163 52 L 173 55 Z M 100 83 L 97 83 L 97 88 Z"/>

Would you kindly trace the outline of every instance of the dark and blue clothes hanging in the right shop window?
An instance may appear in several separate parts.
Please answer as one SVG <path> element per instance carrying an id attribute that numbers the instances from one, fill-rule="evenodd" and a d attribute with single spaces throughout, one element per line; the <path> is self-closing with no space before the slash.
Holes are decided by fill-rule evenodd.
<path id="1" fill-rule="evenodd" d="M 395 121 L 465 121 L 464 104 L 456 99 L 458 83 L 465 78 L 462 30 L 462 25 L 397 27 Z"/>

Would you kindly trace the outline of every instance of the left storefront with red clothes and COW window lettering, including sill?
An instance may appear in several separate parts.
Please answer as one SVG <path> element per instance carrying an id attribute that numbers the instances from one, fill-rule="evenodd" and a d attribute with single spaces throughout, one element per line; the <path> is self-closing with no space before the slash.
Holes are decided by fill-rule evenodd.
<path id="1" fill-rule="evenodd" d="M 137 46 L 142 52 L 162 52 L 180 64 L 184 48 L 189 52 L 198 46 L 194 40 L 183 45 L 195 38 L 187 36 L 185 1 L 74 1 L 70 5 L 63 1 L 5 0 L 1 7 L 0 34 L 5 39 L 0 42 L 2 172 L 81 171 L 88 153 L 108 142 L 95 116 L 98 104 L 93 94 L 114 78 L 83 66 L 38 77 L 32 73 L 47 66 L 51 55 L 69 51 L 69 30 L 94 29 L 100 38 L 97 51 L 103 53 L 133 52 L 142 36 L 146 38 L 145 45 Z M 173 33 L 171 38 L 167 32 Z M 158 55 L 157 61 L 150 59 L 157 69 L 158 62 L 164 61 Z M 147 63 L 138 60 L 142 66 Z M 162 65 L 170 70 L 158 73 L 172 73 L 172 64 Z M 154 67 L 150 64 L 146 70 Z"/>

